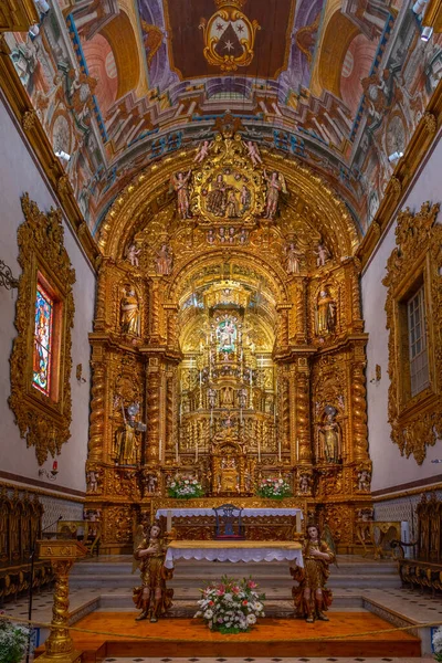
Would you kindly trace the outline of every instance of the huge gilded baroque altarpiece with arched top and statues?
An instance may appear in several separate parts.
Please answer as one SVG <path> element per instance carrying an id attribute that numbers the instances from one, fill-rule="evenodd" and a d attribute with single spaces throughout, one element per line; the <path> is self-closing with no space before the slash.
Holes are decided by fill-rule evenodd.
<path id="1" fill-rule="evenodd" d="M 355 224 L 311 171 L 220 129 L 102 225 L 86 514 L 117 551 L 177 474 L 253 505 L 280 476 L 351 549 L 371 505 Z"/>

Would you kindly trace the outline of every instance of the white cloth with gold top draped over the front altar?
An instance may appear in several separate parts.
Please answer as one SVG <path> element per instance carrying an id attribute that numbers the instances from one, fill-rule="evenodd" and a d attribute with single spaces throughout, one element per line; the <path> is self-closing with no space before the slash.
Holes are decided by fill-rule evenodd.
<path id="1" fill-rule="evenodd" d="M 197 561 L 296 561 L 304 566 L 301 544 L 296 541 L 171 541 L 165 567 L 172 569 L 176 559 Z"/>

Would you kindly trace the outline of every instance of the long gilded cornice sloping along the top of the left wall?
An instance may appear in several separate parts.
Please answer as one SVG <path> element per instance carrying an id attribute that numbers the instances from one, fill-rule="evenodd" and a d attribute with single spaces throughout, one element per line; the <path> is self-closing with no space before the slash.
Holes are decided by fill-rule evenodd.
<path id="1" fill-rule="evenodd" d="M 51 183 L 54 197 L 59 200 L 73 233 L 77 236 L 85 254 L 96 269 L 96 261 L 101 255 L 99 250 L 90 229 L 84 223 L 83 214 L 75 200 L 67 176 L 60 160 L 55 157 L 44 128 L 20 82 L 10 59 L 10 49 L 2 35 L 0 35 L 0 87 L 12 114 L 23 128 L 28 144 L 32 147 L 44 175 Z"/>

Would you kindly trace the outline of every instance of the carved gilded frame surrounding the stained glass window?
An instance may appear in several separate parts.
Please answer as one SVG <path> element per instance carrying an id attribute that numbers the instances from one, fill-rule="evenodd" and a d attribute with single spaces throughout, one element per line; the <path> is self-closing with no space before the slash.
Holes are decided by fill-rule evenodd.
<path id="1" fill-rule="evenodd" d="M 20 435 L 28 446 L 35 446 L 39 465 L 50 453 L 60 453 L 70 438 L 71 400 L 71 328 L 74 324 L 75 271 L 63 243 L 64 229 L 61 210 L 44 214 L 24 193 L 21 204 L 25 221 L 18 231 L 19 264 L 22 274 L 15 309 L 15 328 L 11 364 L 11 396 L 9 404 L 15 415 Z M 57 303 L 55 391 L 51 397 L 32 386 L 34 344 L 34 307 L 38 276 L 48 282 Z"/>

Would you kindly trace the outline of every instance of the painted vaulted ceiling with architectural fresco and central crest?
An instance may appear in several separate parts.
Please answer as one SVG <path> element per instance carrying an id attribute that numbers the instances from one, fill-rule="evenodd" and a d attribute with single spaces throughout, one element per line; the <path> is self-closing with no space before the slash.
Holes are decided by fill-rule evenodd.
<path id="1" fill-rule="evenodd" d="M 401 0 L 50 0 L 7 35 L 93 233 L 137 171 L 242 134 L 308 165 L 364 234 L 442 72 Z"/>

